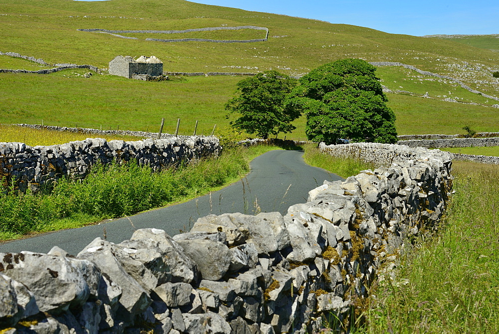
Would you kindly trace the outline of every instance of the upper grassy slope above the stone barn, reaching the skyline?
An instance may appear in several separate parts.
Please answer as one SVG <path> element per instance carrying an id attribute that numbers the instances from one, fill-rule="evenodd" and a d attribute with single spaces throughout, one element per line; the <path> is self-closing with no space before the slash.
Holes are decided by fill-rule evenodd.
<path id="1" fill-rule="evenodd" d="M 306 73 L 342 57 L 401 61 L 436 72 L 443 71 L 436 59 L 488 66 L 497 66 L 499 60 L 497 52 L 450 40 L 389 34 L 359 26 L 183 0 L 11 0 L 2 4 L 0 14 L 2 51 L 33 55 L 50 63 L 87 63 L 103 68 L 117 54 L 154 54 L 168 62 L 165 69 L 172 71 L 217 71 L 224 66 L 247 66 L 261 70 L 282 68 L 286 74 Z M 249 44 L 164 43 L 76 31 L 92 27 L 180 30 L 221 25 L 268 27 L 269 39 Z M 258 30 L 220 33 L 228 37 L 264 34 Z M 192 33 L 192 37 L 204 34 Z"/>

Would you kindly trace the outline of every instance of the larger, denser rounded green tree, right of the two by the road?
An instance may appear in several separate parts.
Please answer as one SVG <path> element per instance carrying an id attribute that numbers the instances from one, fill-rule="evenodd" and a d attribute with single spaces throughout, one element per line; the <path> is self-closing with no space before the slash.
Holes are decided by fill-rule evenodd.
<path id="1" fill-rule="evenodd" d="M 353 58 L 319 66 L 300 79 L 285 108 L 305 113 L 309 140 L 394 143 L 395 114 L 386 105 L 375 71 L 368 62 Z"/>

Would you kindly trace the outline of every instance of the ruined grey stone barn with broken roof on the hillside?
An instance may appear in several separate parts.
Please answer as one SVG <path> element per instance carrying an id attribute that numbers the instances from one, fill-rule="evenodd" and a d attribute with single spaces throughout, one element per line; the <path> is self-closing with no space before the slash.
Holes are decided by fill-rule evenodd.
<path id="1" fill-rule="evenodd" d="M 163 75 L 163 62 L 155 56 L 134 59 L 128 55 L 119 55 L 109 62 L 109 74 L 129 79 L 135 75 L 160 76 Z"/>

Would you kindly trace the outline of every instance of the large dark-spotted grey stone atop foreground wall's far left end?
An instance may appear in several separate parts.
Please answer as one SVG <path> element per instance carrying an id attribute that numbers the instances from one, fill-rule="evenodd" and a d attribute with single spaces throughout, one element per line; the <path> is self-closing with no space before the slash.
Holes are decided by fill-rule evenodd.
<path id="1" fill-rule="evenodd" d="M 24 284 L 42 312 L 60 313 L 82 305 L 90 291 L 83 275 L 65 257 L 21 252 L 0 253 L 2 274 Z"/>

